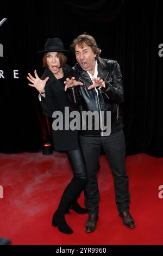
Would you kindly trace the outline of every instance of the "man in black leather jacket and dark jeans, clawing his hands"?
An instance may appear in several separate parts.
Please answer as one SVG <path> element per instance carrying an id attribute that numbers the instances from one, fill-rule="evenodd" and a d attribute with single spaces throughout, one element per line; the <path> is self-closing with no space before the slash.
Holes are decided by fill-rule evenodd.
<path id="1" fill-rule="evenodd" d="M 88 34 L 79 35 L 73 40 L 71 49 L 74 51 L 77 64 L 69 71 L 65 83 L 67 99 L 72 110 L 84 113 L 96 111 L 94 121 L 101 125 L 97 130 L 85 123 L 80 131 L 80 144 L 87 167 L 87 184 L 85 186 L 85 205 L 89 212 L 85 230 L 91 233 L 96 229 L 99 210 L 99 190 L 97 182 L 98 157 L 101 147 L 105 151 L 114 177 L 115 200 L 119 216 L 128 228 L 134 228 L 135 223 L 129 214 L 130 195 L 128 175 L 125 166 L 125 141 L 123 123 L 119 105 L 124 100 L 122 74 L 120 65 L 115 60 L 99 57 L 101 50 L 95 39 Z M 78 81 L 78 84 L 77 84 Z M 80 85 L 79 85 L 80 82 Z M 106 113 L 111 113 L 109 124 Z M 102 118 L 102 114 L 104 117 Z M 96 119 L 96 120 L 95 120 Z M 102 127 L 110 125 L 104 131 Z"/>

